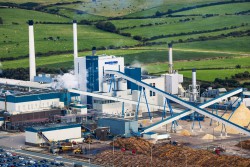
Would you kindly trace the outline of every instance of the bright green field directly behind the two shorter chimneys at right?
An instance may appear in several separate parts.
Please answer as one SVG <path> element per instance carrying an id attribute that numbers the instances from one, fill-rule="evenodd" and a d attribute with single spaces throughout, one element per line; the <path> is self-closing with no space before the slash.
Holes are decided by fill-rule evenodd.
<path id="1" fill-rule="evenodd" d="M 215 78 L 224 79 L 234 74 L 249 71 L 250 57 L 234 57 L 227 59 L 202 60 L 202 61 L 179 61 L 174 62 L 174 69 L 181 70 L 179 73 L 191 78 L 191 69 L 197 68 L 197 79 L 204 81 L 214 81 Z M 234 69 L 236 65 L 241 65 L 241 69 Z M 168 63 L 155 63 L 143 66 L 151 74 L 162 74 L 168 70 Z M 210 68 L 210 69 L 209 69 Z M 214 69 L 225 68 L 225 69 Z M 227 69 L 232 68 L 232 69 Z M 189 70 L 185 70 L 189 69 Z M 207 69 L 207 70 L 204 70 Z"/>

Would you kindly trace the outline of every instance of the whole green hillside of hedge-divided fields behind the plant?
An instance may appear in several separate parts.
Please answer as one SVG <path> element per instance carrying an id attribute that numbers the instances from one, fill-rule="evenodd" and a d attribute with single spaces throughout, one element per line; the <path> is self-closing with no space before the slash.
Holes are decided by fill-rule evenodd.
<path id="1" fill-rule="evenodd" d="M 220 2 L 224 1 L 227 0 Z M 246 12 L 249 10 L 250 2 L 212 5 L 210 3 L 218 1 L 37 0 L 34 2 L 38 4 L 29 3 L 28 0 L 0 0 L 0 2 L 23 4 L 24 8 L 25 5 L 35 5 L 33 9 L 37 7 L 36 11 L 32 8 L 30 10 L 18 7 L 0 8 L 2 69 L 28 67 L 27 20 L 30 19 L 35 22 L 37 66 L 72 69 L 72 20 L 76 19 L 79 23 L 80 56 L 90 55 L 91 53 L 85 50 L 96 46 L 98 54 L 123 56 L 126 65 L 142 66 L 151 74 L 160 74 L 167 69 L 167 43 L 174 41 L 174 67 L 187 77 L 191 76 L 191 68 L 200 69 L 197 78 L 205 81 L 213 81 L 216 71 L 219 72 L 217 75 L 219 78 L 230 77 L 241 70 L 250 71 L 248 65 L 250 15 Z M 55 4 L 58 2 L 61 4 Z M 41 6 L 43 7 L 39 9 Z M 193 9 L 195 6 L 197 7 Z M 172 16 L 161 14 L 169 10 L 173 11 Z M 235 14 L 243 11 L 245 13 Z M 160 12 L 160 15 L 156 16 L 156 12 Z M 148 16 L 151 18 L 146 18 Z M 83 25 L 85 24 L 83 20 L 91 21 L 91 25 Z M 80 24 L 81 21 L 83 22 Z M 115 25 L 116 31 L 108 32 L 96 28 L 95 24 L 99 21 L 111 22 Z M 166 35 L 172 37 L 165 37 Z M 215 36 L 217 38 L 213 38 Z M 241 69 L 236 69 L 236 65 L 241 65 Z M 231 68 L 231 70 L 221 70 L 221 68 Z"/>

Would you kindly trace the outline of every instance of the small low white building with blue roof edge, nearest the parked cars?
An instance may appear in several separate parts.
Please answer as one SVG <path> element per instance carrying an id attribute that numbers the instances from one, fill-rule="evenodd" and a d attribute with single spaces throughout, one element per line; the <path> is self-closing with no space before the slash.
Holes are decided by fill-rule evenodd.
<path id="1" fill-rule="evenodd" d="M 80 124 L 53 124 L 51 126 L 29 127 L 25 130 L 25 143 L 31 145 L 77 138 L 81 138 Z"/>

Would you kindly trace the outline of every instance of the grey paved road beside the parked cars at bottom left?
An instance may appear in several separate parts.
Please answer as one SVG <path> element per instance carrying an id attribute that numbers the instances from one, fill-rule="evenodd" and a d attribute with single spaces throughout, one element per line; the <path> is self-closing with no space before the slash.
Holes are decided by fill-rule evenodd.
<path id="1" fill-rule="evenodd" d="M 3 147 L 4 148 L 4 147 Z M 26 150 L 21 150 L 21 149 L 11 149 L 11 148 L 6 148 L 6 150 L 10 152 L 15 152 L 20 155 L 28 156 L 28 157 L 33 157 L 33 158 L 38 158 L 38 159 L 47 159 L 50 161 L 53 161 L 57 156 L 52 155 L 52 154 L 42 154 L 42 153 L 37 153 L 37 152 L 31 152 L 31 151 L 26 151 Z M 94 165 L 89 162 L 82 162 L 82 161 L 77 161 L 73 159 L 68 159 L 68 158 L 62 158 L 61 160 L 65 165 L 67 166 L 74 166 L 75 163 L 79 163 L 85 167 L 101 167 L 99 165 Z"/>

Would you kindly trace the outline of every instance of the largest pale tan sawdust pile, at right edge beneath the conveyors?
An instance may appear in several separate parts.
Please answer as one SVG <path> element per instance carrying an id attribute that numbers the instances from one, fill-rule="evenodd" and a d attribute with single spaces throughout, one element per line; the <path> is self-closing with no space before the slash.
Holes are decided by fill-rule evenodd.
<path id="1" fill-rule="evenodd" d="M 225 114 L 223 116 L 223 118 L 228 119 L 230 116 L 230 114 Z M 248 124 L 250 123 L 250 110 L 245 106 L 244 103 L 242 103 L 234 112 L 233 116 L 230 118 L 230 121 L 240 125 L 242 127 L 246 127 L 248 126 Z M 239 131 L 237 131 L 234 128 L 231 128 L 229 126 L 225 126 L 226 127 L 226 131 L 227 133 L 231 133 L 231 134 L 238 134 Z M 217 126 L 216 128 L 214 128 L 214 130 L 216 131 L 221 131 L 222 129 L 222 124 L 220 123 L 219 126 Z M 225 131 L 224 127 L 223 127 L 223 131 Z"/>

